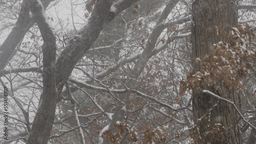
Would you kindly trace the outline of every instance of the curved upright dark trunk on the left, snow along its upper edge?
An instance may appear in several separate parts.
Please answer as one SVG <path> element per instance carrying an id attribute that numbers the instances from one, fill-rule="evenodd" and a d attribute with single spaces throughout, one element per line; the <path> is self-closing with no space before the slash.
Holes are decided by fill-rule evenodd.
<path id="1" fill-rule="evenodd" d="M 47 143 L 54 122 L 57 101 L 55 70 L 56 39 L 40 0 L 24 2 L 27 2 L 32 14 L 37 17 L 36 23 L 44 40 L 44 44 L 42 45 L 42 62 L 44 66 L 42 103 L 38 107 L 27 143 Z"/>

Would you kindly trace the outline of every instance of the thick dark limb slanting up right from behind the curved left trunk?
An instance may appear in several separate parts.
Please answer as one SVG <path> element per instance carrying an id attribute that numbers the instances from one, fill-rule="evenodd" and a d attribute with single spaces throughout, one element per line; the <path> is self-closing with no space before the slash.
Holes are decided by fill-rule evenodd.
<path id="1" fill-rule="evenodd" d="M 96 4 L 91 17 L 89 18 L 88 25 L 83 27 L 61 53 L 57 60 L 57 90 L 60 94 L 65 81 L 68 80 L 77 61 L 84 56 L 90 49 L 93 42 L 99 36 L 101 30 L 106 23 L 114 19 L 124 9 L 130 7 L 138 0 L 125 0 L 115 3 L 116 12 L 111 12 L 112 1 L 100 1 Z M 102 22 L 104 21 L 104 22 Z"/>

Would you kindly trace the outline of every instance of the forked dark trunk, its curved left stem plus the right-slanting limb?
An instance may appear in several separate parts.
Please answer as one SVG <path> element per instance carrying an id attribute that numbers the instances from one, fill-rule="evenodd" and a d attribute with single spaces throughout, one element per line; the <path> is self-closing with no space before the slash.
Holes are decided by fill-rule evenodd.
<path id="1" fill-rule="evenodd" d="M 26 0 L 24 1 L 26 11 L 29 9 L 28 6 L 31 6 L 32 13 L 37 16 L 36 22 L 44 40 L 44 45 L 42 46 L 44 55 L 44 90 L 27 143 L 48 142 L 54 122 L 58 95 L 60 95 L 63 85 L 68 80 L 75 64 L 89 50 L 103 27 L 113 20 L 116 15 L 137 1 L 126 0 L 115 3 L 113 6 L 116 7 L 116 12 L 110 11 L 113 1 L 99 1 L 94 7 L 88 25 L 83 27 L 65 47 L 56 62 L 56 67 L 55 37 L 51 29 L 49 29 L 48 23 L 45 22 L 46 16 L 42 14 L 44 8 L 40 0 L 31 0 L 29 3 Z"/>

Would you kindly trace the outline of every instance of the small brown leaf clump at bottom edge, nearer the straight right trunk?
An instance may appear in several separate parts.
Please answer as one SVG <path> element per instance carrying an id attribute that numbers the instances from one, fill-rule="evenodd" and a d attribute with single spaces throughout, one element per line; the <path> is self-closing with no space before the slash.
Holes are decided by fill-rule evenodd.
<path id="1" fill-rule="evenodd" d="M 144 132 L 143 144 L 147 143 L 165 143 L 167 138 L 167 131 L 164 126 L 150 129 Z"/>

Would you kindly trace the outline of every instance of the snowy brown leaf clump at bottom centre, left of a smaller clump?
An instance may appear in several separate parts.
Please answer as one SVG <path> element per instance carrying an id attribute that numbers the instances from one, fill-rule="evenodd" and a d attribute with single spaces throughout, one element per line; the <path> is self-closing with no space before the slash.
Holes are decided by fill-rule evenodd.
<path id="1" fill-rule="evenodd" d="M 120 143 L 126 134 L 127 140 L 131 143 L 138 141 L 137 132 L 135 132 L 133 128 L 129 129 L 129 125 L 116 122 L 115 127 L 117 133 L 113 133 L 111 130 L 102 133 L 102 137 L 105 137 L 109 143 Z"/>

